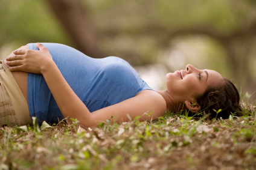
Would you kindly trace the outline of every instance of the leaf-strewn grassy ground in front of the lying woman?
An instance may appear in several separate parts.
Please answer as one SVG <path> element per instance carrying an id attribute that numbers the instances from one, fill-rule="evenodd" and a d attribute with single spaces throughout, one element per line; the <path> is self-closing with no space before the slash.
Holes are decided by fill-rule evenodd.
<path id="1" fill-rule="evenodd" d="M 1 127 L 0 169 L 256 169 L 255 112 L 228 120 L 169 113 L 88 130 L 77 123 Z"/>

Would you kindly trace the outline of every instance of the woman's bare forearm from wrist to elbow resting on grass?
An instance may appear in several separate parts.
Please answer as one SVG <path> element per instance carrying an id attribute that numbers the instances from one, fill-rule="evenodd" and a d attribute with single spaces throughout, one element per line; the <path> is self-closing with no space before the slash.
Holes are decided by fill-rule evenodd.
<path id="1" fill-rule="evenodd" d="M 91 112 L 68 85 L 54 61 L 43 68 L 41 73 L 65 118 L 77 118 L 86 127 L 96 125 Z"/>

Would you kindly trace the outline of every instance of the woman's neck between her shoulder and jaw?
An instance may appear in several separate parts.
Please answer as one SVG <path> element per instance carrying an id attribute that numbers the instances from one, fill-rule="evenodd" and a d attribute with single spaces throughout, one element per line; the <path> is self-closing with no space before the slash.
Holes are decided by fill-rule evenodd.
<path id="1" fill-rule="evenodd" d="M 162 97 L 164 97 L 164 100 L 166 102 L 166 111 L 178 112 L 182 109 L 182 103 L 175 101 L 167 90 L 156 92 L 161 94 Z"/>

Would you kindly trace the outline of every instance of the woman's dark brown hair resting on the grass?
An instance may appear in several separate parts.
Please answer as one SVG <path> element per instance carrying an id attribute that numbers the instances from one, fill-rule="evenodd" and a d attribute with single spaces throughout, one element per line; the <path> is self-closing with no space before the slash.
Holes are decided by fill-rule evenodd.
<path id="1" fill-rule="evenodd" d="M 202 96 L 197 97 L 200 113 L 211 114 L 210 118 L 222 117 L 223 119 L 228 118 L 231 113 L 242 116 L 238 90 L 229 79 L 224 78 L 224 80 L 222 85 L 208 87 Z M 217 114 L 216 111 L 219 109 L 222 111 Z"/>

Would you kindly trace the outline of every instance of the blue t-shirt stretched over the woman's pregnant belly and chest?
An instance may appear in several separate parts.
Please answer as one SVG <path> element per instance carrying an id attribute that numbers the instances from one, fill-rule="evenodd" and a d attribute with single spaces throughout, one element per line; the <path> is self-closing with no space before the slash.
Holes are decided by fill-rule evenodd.
<path id="1" fill-rule="evenodd" d="M 121 58 L 95 59 L 63 44 L 42 44 L 90 112 L 130 99 L 142 90 L 152 90 Z M 28 44 L 28 48 L 39 50 L 36 43 Z M 63 118 L 42 74 L 28 73 L 28 108 L 31 117 L 37 117 L 39 123 L 58 123 Z"/>

